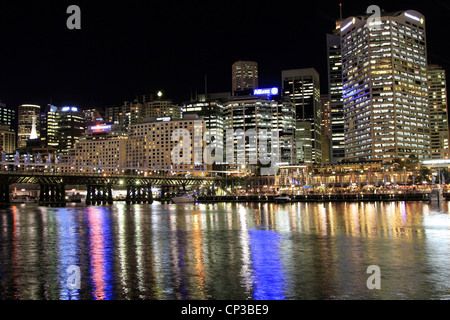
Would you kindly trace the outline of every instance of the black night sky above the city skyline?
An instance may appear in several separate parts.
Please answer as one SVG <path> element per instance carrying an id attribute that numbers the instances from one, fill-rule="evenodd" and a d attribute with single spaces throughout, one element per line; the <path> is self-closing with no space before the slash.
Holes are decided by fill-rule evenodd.
<path id="1" fill-rule="evenodd" d="M 343 16 L 371 4 L 413 9 L 427 18 L 429 63 L 450 70 L 450 5 L 445 0 L 342 1 Z M 231 65 L 259 63 L 260 87 L 281 70 L 316 68 L 327 92 L 327 32 L 340 1 L 1 1 L 0 100 L 76 105 L 121 104 L 163 90 L 177 103 L 191 93 L 231 91 Z M 81 8 L 68 30 L 66 9 Z"/>

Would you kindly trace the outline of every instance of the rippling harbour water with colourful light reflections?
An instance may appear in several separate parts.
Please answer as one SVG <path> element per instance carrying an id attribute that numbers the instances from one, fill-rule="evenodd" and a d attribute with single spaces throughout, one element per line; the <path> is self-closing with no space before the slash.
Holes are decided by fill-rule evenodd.
<path id="1" fill-rule="evenodd" d="M 0 227 L 0 299 L 450 298 L 447 202 L 18 205 Z"/>

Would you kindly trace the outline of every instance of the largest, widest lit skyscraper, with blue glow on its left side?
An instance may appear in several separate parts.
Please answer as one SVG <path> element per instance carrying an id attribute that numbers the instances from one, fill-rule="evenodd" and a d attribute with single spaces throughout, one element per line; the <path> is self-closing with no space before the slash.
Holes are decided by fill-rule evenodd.
<path id="1" fill-rule="evenodd" d="M 408 10 L 341 24 L 348 160 L 430 157 L 425 17 Z"/>

